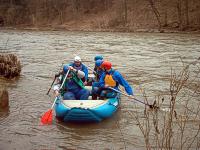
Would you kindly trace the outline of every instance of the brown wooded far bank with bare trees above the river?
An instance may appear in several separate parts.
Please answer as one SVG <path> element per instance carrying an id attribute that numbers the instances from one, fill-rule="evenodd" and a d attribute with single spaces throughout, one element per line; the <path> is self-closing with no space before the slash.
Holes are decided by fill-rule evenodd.
<path id="1" fill-rule="evenodd" d="M 0 0 L 1 25 L 200 29 L 199 0 Z M 77 25 L 77 26 L 78 26 Z"/>

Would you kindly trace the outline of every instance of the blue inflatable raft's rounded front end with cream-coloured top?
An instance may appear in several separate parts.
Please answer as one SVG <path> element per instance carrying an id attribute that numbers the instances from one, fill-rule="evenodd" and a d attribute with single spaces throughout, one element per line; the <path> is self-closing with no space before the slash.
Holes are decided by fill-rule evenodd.
<path id="1" fill-rule="evenodd" d="M 64 122 L 100 122 L 111 117 L 118 109 L 120 95 L 106 100 L 63 100 L 55 105 L 56 117 Z"/>

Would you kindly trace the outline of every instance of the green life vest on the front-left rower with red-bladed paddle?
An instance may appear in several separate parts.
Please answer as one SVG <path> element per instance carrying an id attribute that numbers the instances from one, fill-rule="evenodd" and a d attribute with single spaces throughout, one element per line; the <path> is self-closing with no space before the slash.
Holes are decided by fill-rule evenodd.
<path id="1" fill-rule="evenodd" d="M 78 78 L 74 72 L 70 72 L 70 74 L 72 75 L 72 77 L 70 79 L 72 79 L 79 87 L 81 87 L 82 89 L 85 89 L 85 85 L 84 85 L 83 81 L 80 78 Z M 62 76 L 61 83 L 63 82 L 64 77 L 65 77 L 65 75 Z M 68 81 L 69 81 L 69 79 L 66 78 L 64 86 L 63 86 L 64 88 L 61 89 L 62 96 L 67 91 L 67 82 Z"/>

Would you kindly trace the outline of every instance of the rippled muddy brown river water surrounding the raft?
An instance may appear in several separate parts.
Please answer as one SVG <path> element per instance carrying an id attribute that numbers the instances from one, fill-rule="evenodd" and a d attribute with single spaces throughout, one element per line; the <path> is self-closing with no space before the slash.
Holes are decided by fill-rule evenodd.
<path id="1" fill-rule="evenodd" d="M 128 111 L 142 115 L 144 106 L 122 96 L 119 111 L 107 120 L 90 124 L 42 126 L 40 116 L 53 103 L 46 95 L 61 64 L 80 55 L 89 67 L 101 54 L 113 63 L 143 100 L 139 87 L 153 102 L 169 89 L 171 67 L 200 56 L 200 35 L 67 31 L 0 31 L 0 51 L 16 54 L 21 77 L 7 84 L 10 104 L 0 116 L 0 149 L 145 149 L 143 136 Z M 180 59 L 181 58 L 181 59 Z M 164 95 L 164 94 L 163 94 Z M 152 101 L 151 101 L 152 100 Z"/>

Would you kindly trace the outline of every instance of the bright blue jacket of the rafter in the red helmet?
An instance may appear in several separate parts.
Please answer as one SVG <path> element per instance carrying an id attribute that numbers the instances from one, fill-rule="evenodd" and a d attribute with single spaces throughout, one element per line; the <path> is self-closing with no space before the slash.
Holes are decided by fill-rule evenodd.
<path id="1" fill-rule="evenodd" d="M 128 82 L 123 78 L 123 76 L 119 73 L 119 71 L 117 70 L 113 70 L 111 69 L 110 72 L 108 72 L 108 74 L 111 74 L 112 77 L 113 77 L 113 80 L 115 80 L 117 82 L 117 86 L 114 87 L 116 89 L 118 89 L 118 86 L 119 84 L 121 86 L 123 86 L 126 90 L 126 92 L 129 94 L 129 95 L 133 95 L 133 90 L 131 88 L 131 86 L 128 84 Z M 100 78 L 100 81 L 99 81 L 99 85 L 100 87 L 104 87 L 105 86 L 105 81 L 104 81 L 104 78 L 106 76 L 106 72 L 104 72 L 102 75 L 101 75 L 101 78 Z"/>

